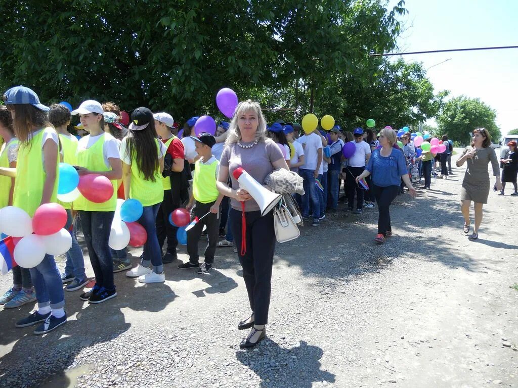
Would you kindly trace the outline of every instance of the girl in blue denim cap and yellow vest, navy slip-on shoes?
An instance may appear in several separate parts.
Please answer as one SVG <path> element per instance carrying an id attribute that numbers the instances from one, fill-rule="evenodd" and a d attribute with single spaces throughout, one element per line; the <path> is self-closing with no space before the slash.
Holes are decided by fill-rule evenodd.
<path id="1" fill-rule="evenodd" d="M 40 205 L 57 199 L 59 137 L 47 120 L 49 108 L 39 102 L 37 94 L 30 88 L 10 88 L 4 95 L 4 103 L 13 117 L 20 146 L 16 169 L 0 168 L 0 174 L 16 177 L 13 206 L 32 217 Z M 16 326 L 41 323 L 34 334 L 45 334 L 67 320 L 61 276 L 54 257 L 47 254 L 30 271 L 38 309 L 18 321 Z"/>

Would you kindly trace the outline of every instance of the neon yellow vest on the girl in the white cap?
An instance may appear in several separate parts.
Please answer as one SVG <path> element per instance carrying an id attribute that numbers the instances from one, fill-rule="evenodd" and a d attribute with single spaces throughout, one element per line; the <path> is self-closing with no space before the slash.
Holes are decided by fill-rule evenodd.
<path id="1" fill-rule="evenodd" d="M 102 136 L 90 147 L 86 148 L 88 144 L 88 137 L 80 141 L 77 146 L 77 166 L 84 167 L 90 171 L 110 171 L 111 166 L 106 167 L 104 163 L 104 142 L 106 137 L 111 136 L 109 133 L 103 133 Z M 111 198 L 103 203 L 91 202 L 80 195 L 74 201 L 74 210 L 83 210 L 87 212 L 114 212 L 117 207 L 117 180 L 111 181 L 113 185 L 113 195 Z"/>

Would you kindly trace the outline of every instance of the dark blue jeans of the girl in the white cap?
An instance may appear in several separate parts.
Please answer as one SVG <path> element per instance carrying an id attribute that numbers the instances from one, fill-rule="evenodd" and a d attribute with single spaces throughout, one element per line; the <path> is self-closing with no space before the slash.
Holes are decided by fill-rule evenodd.
<path id="1" fill-rule="evenodd" d="M 87 243 L 90 263 L 98 287 L 113 290 L 113 260 L 108 249 L 111 223 L 115 212 L 79 211 L 79 220 Z"/>

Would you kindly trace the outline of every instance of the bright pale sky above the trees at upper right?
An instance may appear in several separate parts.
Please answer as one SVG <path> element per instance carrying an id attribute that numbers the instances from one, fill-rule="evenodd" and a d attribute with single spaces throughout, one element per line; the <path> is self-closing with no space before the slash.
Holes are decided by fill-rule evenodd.
<path id="1" fill-rule="evenodd" d="M 397 1 L 390 0 L 389 9 Z M 406 0 L 400 51 L 518 46 L 518 0 Z M 518 49 L 404 55 L 422 62 L 435 90 L 480 98 L 505 135 L 518 128 Z"/>

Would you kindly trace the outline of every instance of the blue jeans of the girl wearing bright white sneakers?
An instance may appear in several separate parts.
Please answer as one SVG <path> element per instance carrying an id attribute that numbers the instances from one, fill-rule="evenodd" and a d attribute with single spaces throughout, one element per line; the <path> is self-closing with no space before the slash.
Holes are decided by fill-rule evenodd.
<path id="1" fill-rule="evenodd" d="M 163 272 L 162 266 L 162 250 L 159 245 L 159 238 L 156 235 L 156 215 L 159 213 L 160 203 L 144 206 L 142 215 L 138 223 L 146 229 L 148 239 L 144 244 L 144 251 L 142 253 L 142 266 L 149 267 L 153 264 L 153 271 L 157 274 Z"/>

